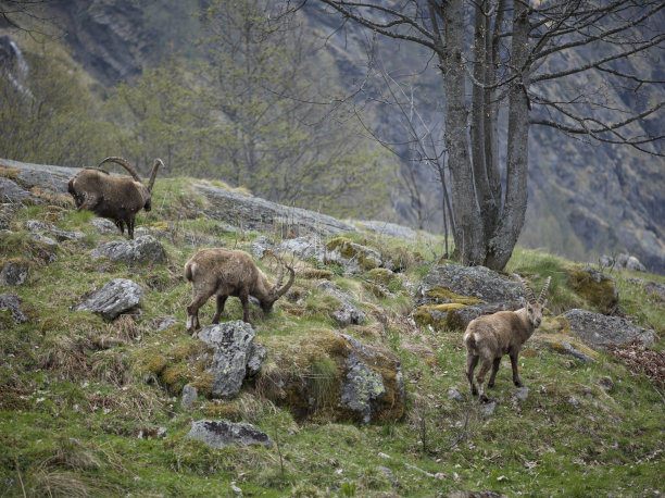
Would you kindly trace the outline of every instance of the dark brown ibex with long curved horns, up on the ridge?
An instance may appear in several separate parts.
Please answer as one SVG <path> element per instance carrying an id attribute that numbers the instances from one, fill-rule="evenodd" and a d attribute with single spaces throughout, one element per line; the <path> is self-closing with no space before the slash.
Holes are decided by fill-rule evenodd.
<path id="1" fill-rule="evenodd" d="M 79 171 L 67 187 L 74 197 L 76 209 L 88 209 L 98 216 L 108 217 L 115 222 L 121 233 L 125 233 L 125 223 L 129 238 L 134 238 L 134 219 L 141 209 L 150 211 L 152 208 L 152 186 L 158 169 L 164 165 L 161 159 L 155 159 L 148 185 L 143 185 L 141 177 L 134 166 L 123 158 L 106 158 L 99 166 L 106 162 L 114 162 L 129 172 L 127 176 L 111 176 L 98 169 Z M 99 167 L 98 166 L 98 167 Z"/>

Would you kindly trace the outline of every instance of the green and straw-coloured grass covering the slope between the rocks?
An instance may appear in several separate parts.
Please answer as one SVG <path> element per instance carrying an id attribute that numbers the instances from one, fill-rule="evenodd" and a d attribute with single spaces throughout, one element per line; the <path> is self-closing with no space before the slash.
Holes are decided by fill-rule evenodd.
<path id="1" fill-rule="evenodd" d="M 355 426 L 323 416 L 296 421 L 286 410 L 243 391 L 231 402 L 202 402 L 184 411 L 179 399 L 155 377 L 150 361 L 156 353 L 174 365 L 184 364 L 193 348 L 184 327 L 190 288 L 181 267 L 195 249 L 183 244 L 185 233 L 215 237 L 219 245 L 248 248 L 256 234 L 229 234 L 214 222 L 189 219 L 204 201 L 190 199 L 187 180 L 162 180 L 155 186 L 153 211 L 139 216 L 143 226 L 174 229 L 163 240 L 167 262 L 127 267 L 90 261 L 86 254 L 99 236 L 89 213 L 62 212 L 54 222 L 87 237 L 63 242 L 58 261 L 45 264 L 45 248 L 24 238 L 24 222 L 53 219 L 43 206 L 21 209 L 12 217 L 18 236 L 2 236 L 0 258 L 22 258 L 30 264 L 28 282 L 16 292 L 30 322 L 14 326 L 0 312 L 0 495 L 230 495 L 231 482 L 246 495 L 432 496 L 457 489 L 494 489 L 507 495 L 599 496 L 607 493 L 649 496 L 665 491 L 663 394 L 644 377 L 629 373 L 601 353 L 599 363 L 585 366 L 548 349 L 535 336 L 520 357 L 523 382 L 531 388 L 526 401 L 512 400 L 510 368 L 502 365 L 493 397 L 493 415 L 484 416 L 468 399 L 464 378 L 465 352 L 459 332 L 416 329 L 405 315 L 411 296 L 427 266 L 414 266 L 388 287 L 393 295 L 376 298 L 361 281 L 336 281 L 366 310 L 387 318 L 384 336 L 373 323 L 352 334 L 392 349 L 402 359 L 407 414 L 387 425 Z M 387 238 L 352 235 L 357 241 L 394 250 Z M 426 257 L 438 246 L 410 241 L 410 250 Z M 272 269 L 259 262 L 271 273 Z M 517 250 L 510 271 L 554 275 L 552 309 L 579 304 L 566 286 L 565 261 L 535 251 Z M 332 269 L 335 270 L 335 269 Z M 618 274 L 622 310 L 641 325 L 663 333 L 662 302 L 627 284 Z M 145 289 L 142 314 L 105 323 L 70 308 L 113 277 L 127 277 Z M 542 277 L 535 277 L 536 285 Z M 663 282 L 661 277 L 653 277 Z M 254 310 L 258 338 L 268 348 L 287 348 L 314 329 L 335 329 L 327 303 L 315 281 L 299 278 L 308 296 L 302 306 L 280 302 L 268 318 Z M 210 323 L 212 301 L 201 321 Z M 236 299 L 223 319 L 240 318 Z M 155 332 L 162 316 L 176 325 Z M 98 349 L 95 340 L 113 336 L 125 346 Z M 269 351 L 271 349 L 268 349 Z M 185 351 L 185 352 L 184 352 Z M 278 356 L 276 352 L 273 357 Z M 271 358 L 268 357 L 268 362 Z M 173 385 L 184 381 L 176 376 Z M 601 376 L 616 385 L 608 395 L 598 387 Z M 465 394 L 453 401 L 448 389 Z M 579 408 L 568 399 L 575 397 Z M 192 419 L 224 413 L 255 424 L 277 443 L 272 449 L 229 447 L 213 450 L 185 436 Z M 163 426 L 166 436 L 138 438 L 140 429 Z M 386 458 L 389 456 L 390 458 Z M 393 487 L 390 469 L 400 483 Z M 427 473 L 427 474 L 426 474 Z M 432 475 L 439 473 L 439 477 Z"/>

